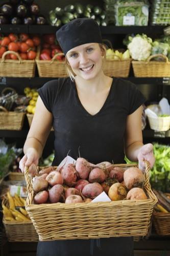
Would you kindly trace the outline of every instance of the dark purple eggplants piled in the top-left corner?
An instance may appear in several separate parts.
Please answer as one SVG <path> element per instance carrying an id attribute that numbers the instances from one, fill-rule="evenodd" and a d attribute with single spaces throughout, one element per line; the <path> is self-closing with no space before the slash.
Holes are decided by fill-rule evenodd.
<path id="1" fill-rule="evenodd" d="M 46 19 L 40 14 L 40 7 L 33 0 L 10 0 L 0 7 L 0 24 L 44 25 Z"/>

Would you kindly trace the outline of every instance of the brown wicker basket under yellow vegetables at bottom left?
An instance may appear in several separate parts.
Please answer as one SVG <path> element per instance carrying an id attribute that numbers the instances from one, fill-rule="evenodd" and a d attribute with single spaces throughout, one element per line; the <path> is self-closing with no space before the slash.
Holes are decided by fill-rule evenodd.
<path id="1" fill-rule="evenodd" d="M 3 199 L 3 203 L 9 207 L 8 200 Z M 10 242 L 36 242 L 38 234 L 32 221 L 5 221 L 3 219 L 6 235 Z"/>

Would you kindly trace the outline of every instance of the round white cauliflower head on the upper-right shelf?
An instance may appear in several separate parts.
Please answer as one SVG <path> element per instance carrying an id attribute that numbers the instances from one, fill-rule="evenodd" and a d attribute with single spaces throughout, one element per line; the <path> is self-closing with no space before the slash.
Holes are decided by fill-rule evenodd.
<path id="1" fill-rule="evenodd" d="M 128 45 L 128 49 L 133 59 L 146 60 L 151 55 L 152 46 L 148 40 L 135 36 Z"/>

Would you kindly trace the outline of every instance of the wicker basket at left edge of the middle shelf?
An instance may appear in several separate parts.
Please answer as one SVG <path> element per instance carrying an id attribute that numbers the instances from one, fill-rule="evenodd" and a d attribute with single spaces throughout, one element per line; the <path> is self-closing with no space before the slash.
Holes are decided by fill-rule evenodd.
<path id="1" fill-rule="evenodd" d="M 7 111 L 0 106 L 0 130 L 21 130 L 25 113 Z"/>

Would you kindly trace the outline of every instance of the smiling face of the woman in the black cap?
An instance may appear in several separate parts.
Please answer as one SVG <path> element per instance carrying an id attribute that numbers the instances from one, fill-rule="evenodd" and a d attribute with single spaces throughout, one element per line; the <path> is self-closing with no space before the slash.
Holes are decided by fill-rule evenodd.
<path id="1" fill-rule="evenodd" d="M 67 52 L 72 71 L 82 78 L 94 78 L 102 70 L 102 51 L 98 43 L 77 46 Z"/>

